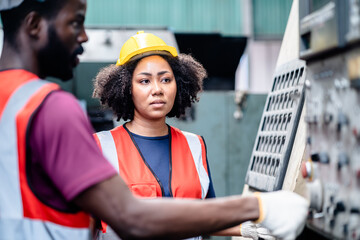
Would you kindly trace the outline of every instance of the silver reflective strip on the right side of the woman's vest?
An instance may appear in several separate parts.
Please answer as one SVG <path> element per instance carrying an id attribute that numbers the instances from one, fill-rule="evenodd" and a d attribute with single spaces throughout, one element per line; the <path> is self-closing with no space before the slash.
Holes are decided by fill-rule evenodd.
<path id="1" fill-rule="evenodd" d="M 201 143 L 197 135 L 185 131 L 181 131 L 189 144 L 191 154 L 194 159 L 196 170 L 199 174 L 201 184 L 201 198 L 204 199 L 209 190 L 209 176 L 204 168 L 201 154 Z"/>

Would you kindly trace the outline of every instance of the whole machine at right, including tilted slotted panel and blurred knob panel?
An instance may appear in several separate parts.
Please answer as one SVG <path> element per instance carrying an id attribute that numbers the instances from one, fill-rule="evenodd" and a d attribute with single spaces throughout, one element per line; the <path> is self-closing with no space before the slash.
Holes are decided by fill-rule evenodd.
<path id="1" fill-rule="evenodd" d="M 307 229 L 327 239 L 360 240 L 360 0 L 298 3 L 299 59 L 273 75 L 247 191 L 305 180 Z M 303 145 L 296 145 L 302 132 Z M 293 156 L 296 148 L 303 154 Z M 294 167 L 301 179 L 289 176 Z"/>

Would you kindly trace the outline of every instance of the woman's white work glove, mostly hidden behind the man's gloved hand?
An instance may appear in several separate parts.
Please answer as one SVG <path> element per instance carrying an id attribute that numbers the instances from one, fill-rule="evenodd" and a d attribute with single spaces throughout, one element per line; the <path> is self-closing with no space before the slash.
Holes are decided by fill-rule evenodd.
<path id="1" fill-rule="evenodd" d="M 263 228 L 259 224 L 253 222 L 243 222 L 240 225 L 240 235 L 245 238 L 251 238 L 253 240 L 258 240 L 259 238 L 265 240 L 275 240 L 271 235 L 270 231 L 266 228 Z"/>

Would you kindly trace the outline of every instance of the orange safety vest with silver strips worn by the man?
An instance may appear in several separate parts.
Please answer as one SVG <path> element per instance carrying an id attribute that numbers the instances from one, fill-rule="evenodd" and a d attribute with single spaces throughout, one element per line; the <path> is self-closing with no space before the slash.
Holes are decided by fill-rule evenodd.
<path id="1" fill-rule="evenodd" d="M 25 70 L 0 72 L 0 238 L 89 239 L 89 215 L 42 203 L 27 181 L 27 141 L 33 114 L 59 86 Z"/>

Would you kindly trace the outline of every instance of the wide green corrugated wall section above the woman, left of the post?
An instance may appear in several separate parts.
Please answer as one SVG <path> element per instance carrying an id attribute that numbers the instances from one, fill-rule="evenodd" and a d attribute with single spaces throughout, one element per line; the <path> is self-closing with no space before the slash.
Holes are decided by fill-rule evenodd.
<path id="1" fill-rule="evenodd" d="M 241 0 L 89 0 L 86 24 L 240 36 L 241 12 Z"/>

